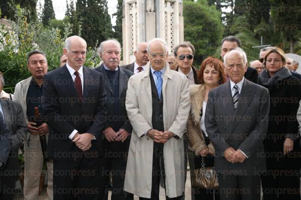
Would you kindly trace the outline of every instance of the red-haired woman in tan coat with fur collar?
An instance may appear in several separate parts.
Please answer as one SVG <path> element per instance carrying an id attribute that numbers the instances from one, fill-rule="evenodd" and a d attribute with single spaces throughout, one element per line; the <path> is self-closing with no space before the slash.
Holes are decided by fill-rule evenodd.
<path id="1" fill-rule="evenodd" d="M 189 148 L 195 153 L 195 168 L 201 168 L 202 157 L 206 167 L 214 166 L 214 146 L 209 140 L 204 125 L 204 116 L 208 93 L 210 89 L 227 81 L 224 74 L 224 65 L 216 58 L 208 57 L 202 62 L 198 73 L 198 81 L 201 85 L 191 85 L 191 111 L 187 121 L 186 136 L 190 141 Z M 214 190 L 194 188 L 196 199 L 219 199 L 218 192 Z M 214 194 L 215 193 L 215 194 Z"/>

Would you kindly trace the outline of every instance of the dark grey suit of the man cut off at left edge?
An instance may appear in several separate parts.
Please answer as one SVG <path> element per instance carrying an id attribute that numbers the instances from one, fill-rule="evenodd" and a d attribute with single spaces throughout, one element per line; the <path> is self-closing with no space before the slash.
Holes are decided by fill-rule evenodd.
<path id="1" fill-rule="evenodd" d="M 2 90 L 0 88 L 0 90 Z M 27 126 L 25 115 L 19 103 L 0 99 L 1 114 L 4 116 L 8 129 L 12 132 L 12 151 L 3 170 L 0 170 L 3 191 L 0 199 L 12 200 L 14 198 L 15 183 L 19 179 L 18 151 L 24 141 Z"/>

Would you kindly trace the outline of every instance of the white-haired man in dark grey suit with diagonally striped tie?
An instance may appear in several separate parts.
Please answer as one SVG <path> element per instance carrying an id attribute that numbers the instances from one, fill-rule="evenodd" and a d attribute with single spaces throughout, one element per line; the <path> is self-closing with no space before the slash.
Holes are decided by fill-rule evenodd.
<path id="1" fill-rule="evenodd" d="M 247 57 L 241 48 L 224 56 L 230 80 L 210 90 L 205 127 L 215 147 L 220 199 L 260 199 L 266 169 L 263 140 L 270 109 L 268 89 L 244 78 Z"/>

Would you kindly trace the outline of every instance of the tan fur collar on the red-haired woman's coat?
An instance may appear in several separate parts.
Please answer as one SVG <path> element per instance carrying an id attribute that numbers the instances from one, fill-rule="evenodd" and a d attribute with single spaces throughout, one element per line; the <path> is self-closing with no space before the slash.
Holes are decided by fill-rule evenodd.
<path id="1" fill-rule="evenodd" d="M 198 126 L 201 120 L 200 114 L 205 96 L 205 85 L 190 85 L 189 89 L 191 99 L 190 115 L 195 126 Z"/>

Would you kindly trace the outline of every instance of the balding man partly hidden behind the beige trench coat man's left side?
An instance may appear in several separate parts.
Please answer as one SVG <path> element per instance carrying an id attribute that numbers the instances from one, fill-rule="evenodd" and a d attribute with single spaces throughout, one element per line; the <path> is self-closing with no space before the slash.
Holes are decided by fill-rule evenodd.
<path id="1" fill-rule="evenodd" d="M 123 65 L 121 67 L 130 70 L 131 72 L 134 72 L 134 74 L 144 71 L 145 65 L 148 62 L 146 44 L 146 42 L 140 42 L 139 44 L 137 44 L 136 51 L 134 52 L 136 61 L 134 63 L 131 63 L 129 65 Z"/>

